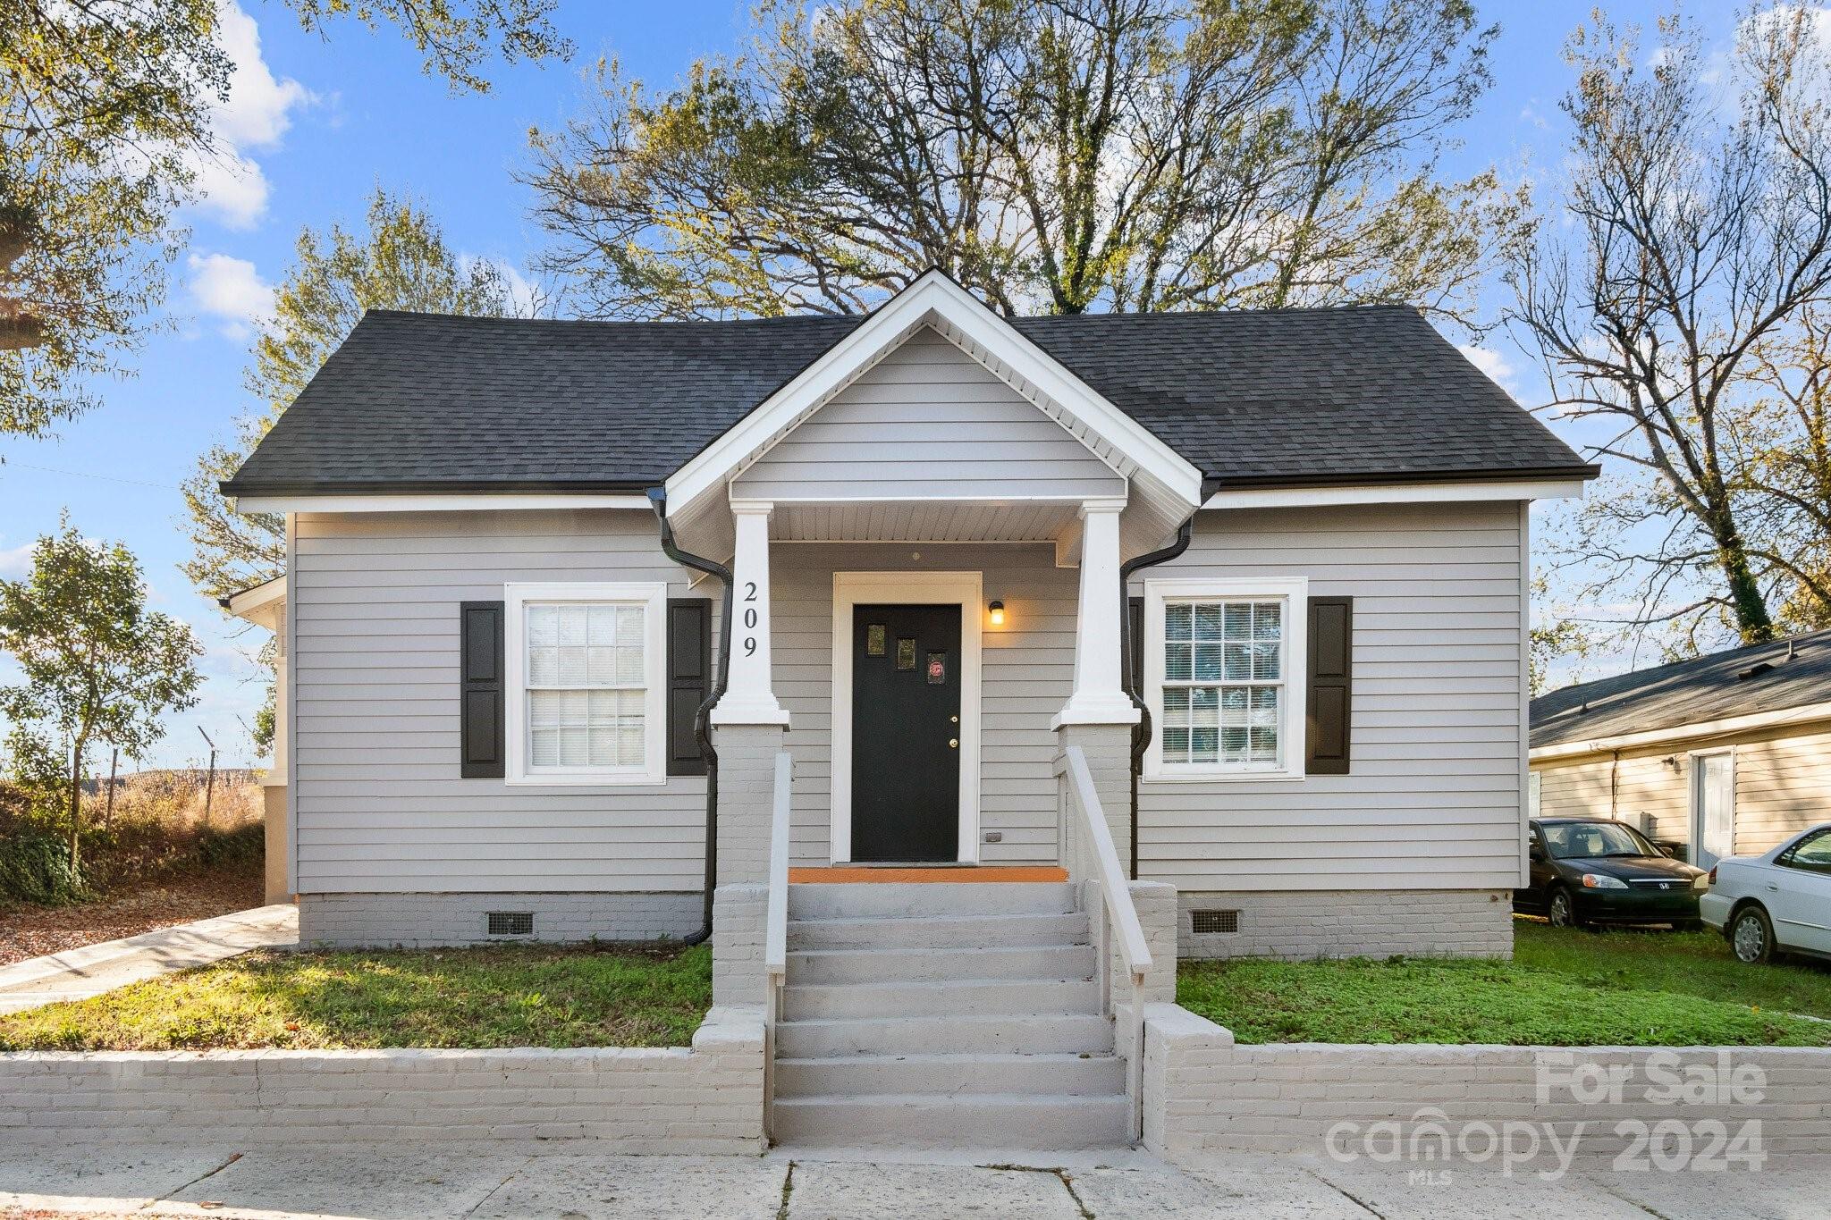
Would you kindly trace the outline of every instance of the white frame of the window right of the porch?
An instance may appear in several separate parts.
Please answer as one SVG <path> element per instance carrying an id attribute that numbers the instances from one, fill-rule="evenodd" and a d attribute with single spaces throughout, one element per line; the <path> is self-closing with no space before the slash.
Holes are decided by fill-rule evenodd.
<path id="1" fill-rule="evenodd" d="M 1284 602 L 1284 699 L 1280 701 L 1278 763 L 1165 763 L 1163 761 L 1163 616 L 1168 602 Z M 1302 779 L 1306 702 L 1309 697 L 1309 580 L 1146 580 L 1144 582 L 1144 706 L 1152 735 L 1144 750 L 1144 779 L 1245 781 Z"/>

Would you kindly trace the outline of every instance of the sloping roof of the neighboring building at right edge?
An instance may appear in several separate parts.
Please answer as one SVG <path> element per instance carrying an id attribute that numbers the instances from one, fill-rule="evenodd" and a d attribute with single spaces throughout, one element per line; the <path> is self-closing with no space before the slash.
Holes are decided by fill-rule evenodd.
<path id="1" fill-rule="evenodd" d="M 1824 702 L 1831 702 L 1831 631 L 1813 631 L 1540 695 L 1531 748 L 1653 737 Z"/>

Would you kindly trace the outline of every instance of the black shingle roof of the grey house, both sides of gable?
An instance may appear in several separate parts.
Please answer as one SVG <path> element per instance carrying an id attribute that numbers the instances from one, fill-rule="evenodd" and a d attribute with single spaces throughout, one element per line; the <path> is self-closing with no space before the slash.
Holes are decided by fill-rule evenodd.
<path id="1" fill-rule="evenodd" d="M 857 324 L 370 311 L 223 490 L 641 490 Z M 1401 305 L 1014 324 L 1210 490 L 1593 472 Z"/>

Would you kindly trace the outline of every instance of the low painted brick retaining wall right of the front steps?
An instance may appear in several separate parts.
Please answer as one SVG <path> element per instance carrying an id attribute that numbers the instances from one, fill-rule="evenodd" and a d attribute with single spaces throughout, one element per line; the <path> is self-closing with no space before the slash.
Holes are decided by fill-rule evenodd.
<path id="1" fill-rule="evenodd" d="M 1663 1063 L 1672 1063 L 1666 1068 L 1672 1072 L 1710 1072 L 1716 1081 L 1728 1079 L 1725 1066 L 1750 1065 L 1760 1070 L 1760 1099 L 1657 1101 L 1650 1086 L 1659 1081 L 1650 1068 Z M 1569 1085 L 1578 1070 L 1617 1072 L 1619 1099 L 1598 1094 L 1597 1101 L 1582 1101 Z M 1688 1132 L 1717 1121 L 1728 1134 L 1760 1119 L 1769 1156 L 1822 1154 L 1831 1149 L 1831 1050 L 1236 1046 L 1229 1030 L 1176 1004 L 1154 1004 L 1146 1013 L 1144 1143 L 1163 1156 L 1216 1150 L 1331 1156 L 1333 1141 L 1337 1158 L 1348 1150 L 1370 1160 L 1368 1129 L 1386 1125 L 1404 1158 L 1414 1160 L 1414 1143 L 1443 1147 L 1437 1130 L 1454 1140 L 1472 1125 L 1529 1123 L 1542 1136 L 1555 1130 L 1566 1143 L 1575 1136 L 1576 1158 L 1595 1160 L 1615 1158 L 1630 1145 L 1631 1134 L 1619 1132 L 1617 1123 L 1652 1127 L 1672 1119 Z M 1694 1147 L 1705 1145 L 1706 1136 L 1696 1136 Z M 1437 1167 L 1443 1161 L 1437 1158 Z"/>

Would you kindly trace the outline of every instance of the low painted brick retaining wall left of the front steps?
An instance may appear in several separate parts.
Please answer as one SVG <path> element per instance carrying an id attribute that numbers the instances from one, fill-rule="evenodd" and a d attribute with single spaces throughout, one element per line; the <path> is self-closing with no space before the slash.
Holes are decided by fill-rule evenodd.
<path id="1" fill-rule="evenodd" d="M 685 1048 L 0 1054 L 0 1132 L 251 1143 L 595 1140 L 758 1152 L 762 1010 Z M 7 1138 L 0 1134 L 0 1140 Z"/>

